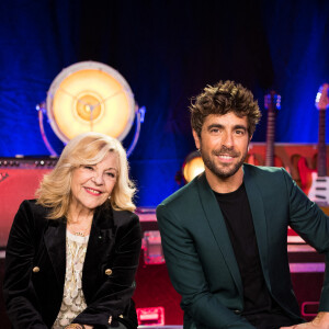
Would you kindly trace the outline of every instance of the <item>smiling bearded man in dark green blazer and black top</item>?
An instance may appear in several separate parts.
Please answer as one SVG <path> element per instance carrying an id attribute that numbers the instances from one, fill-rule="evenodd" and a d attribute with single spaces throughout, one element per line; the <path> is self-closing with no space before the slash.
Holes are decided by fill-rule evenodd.
<path id="1" fill-rule="evenodd" d="M 220 81 L 190 110 L 205 171 L 157 207 L 184 328 L 329 328 L 329 273 L 305 322 L 287 258 L 288 226 L 328 256 L 329 218 L 283 168 L 243 163 L 261 116 L 252 93 Z"/>

